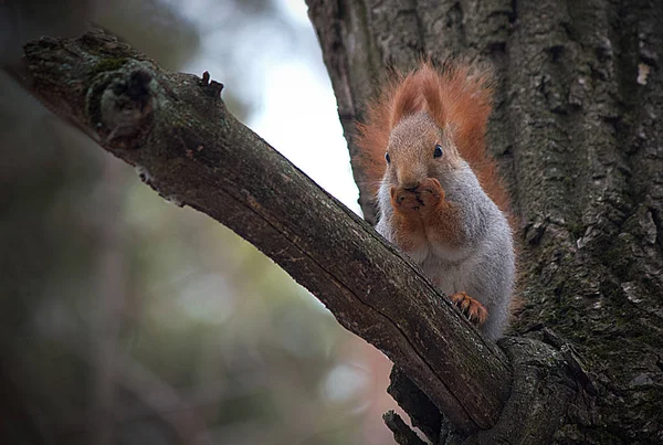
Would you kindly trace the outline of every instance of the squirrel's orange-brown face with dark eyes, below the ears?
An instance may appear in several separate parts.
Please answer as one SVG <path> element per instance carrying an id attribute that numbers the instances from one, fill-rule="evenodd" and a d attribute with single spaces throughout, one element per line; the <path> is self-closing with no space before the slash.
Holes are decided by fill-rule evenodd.
<path id="1" fill-rule="evenodd" d="M 451 127 L 440 128 L 425 112 L 403 117 L 389 135 L 385 180 L 408 190 L 425 178 L 444 186 L 462 162 L 451 133 Z"/>

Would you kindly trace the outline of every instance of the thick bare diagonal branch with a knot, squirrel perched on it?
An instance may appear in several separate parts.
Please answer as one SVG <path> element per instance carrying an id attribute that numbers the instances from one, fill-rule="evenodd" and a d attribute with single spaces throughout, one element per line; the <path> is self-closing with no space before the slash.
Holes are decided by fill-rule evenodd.
<path id="1" fill-rule="evenodd" d="M 505 354 L 366 222 L 228 113 L 221 84 L 166 72 L 99 31 L 25 45 L 24 82 L 166 199 L 280 264 L 383 351 L 454 427 L 497 421 Z"/>

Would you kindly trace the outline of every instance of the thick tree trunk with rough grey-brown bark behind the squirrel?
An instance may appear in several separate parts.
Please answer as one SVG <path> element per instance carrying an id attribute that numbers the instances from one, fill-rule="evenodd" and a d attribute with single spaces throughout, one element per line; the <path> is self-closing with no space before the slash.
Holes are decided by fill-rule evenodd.
<path id="1" fill-rule="evenodd" d="M 580 390 L 560 393 L 573 400 L 556 412 L 544 407 L 536 439 L 520 434 L 524 413 L 508 404 L 474 437 L 663 443 L 663 2 L 307 3 L 350 152 L 354 123 L 388 70 L 450 55 L 495 68 L 488 140 L 522 221 L 520 337 L 504 346 L 543 339 Z M 362 172 L 354 173 L 360 183 Z M 373 221 L 364 190 L 360 204 Z M 512 400 L 520 383 L 533 384 L 515 375 Z M 541 377 L 534 391 L 546 391 Z M 516 433 L 499 435 L 502 424 Z"/>

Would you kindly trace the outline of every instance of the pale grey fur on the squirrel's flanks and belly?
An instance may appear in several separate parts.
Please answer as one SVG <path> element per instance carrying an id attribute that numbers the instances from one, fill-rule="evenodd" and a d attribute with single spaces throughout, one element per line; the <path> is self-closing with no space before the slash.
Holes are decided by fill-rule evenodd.
<path id="1" fill-rule="evenodd" d="M 512 231 L 505 214 L 485 194 L 470 166 L 446 178 L 438 178 L 445 199 L 461 210 L 461 226 L 469 243 L 449 248 L 429 243 L 417 252 L 406 252 L 424 274 L 446 295 L 466 292 L 488 311 L 481 330 L 492 340 L 502 337 L 507 324 L 508 306 L 515 279 Z M 390 184 L 382 182 L 378 192 L 380 219 L 376 230 L 390 242 L 393 209 Z"/>

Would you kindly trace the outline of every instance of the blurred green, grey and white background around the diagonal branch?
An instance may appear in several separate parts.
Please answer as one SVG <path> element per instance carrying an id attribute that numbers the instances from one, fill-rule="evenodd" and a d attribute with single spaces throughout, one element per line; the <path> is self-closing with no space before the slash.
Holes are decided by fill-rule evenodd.
<path id="1" fill-rule="evenodd" d="M 225 85 L 359 212 L 304 0 L 0 1 L 0 62 L 86 20 Z M 392 444 L 388 360 L 0 71 L 0 444 Z"/>

